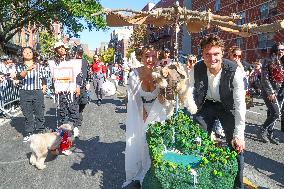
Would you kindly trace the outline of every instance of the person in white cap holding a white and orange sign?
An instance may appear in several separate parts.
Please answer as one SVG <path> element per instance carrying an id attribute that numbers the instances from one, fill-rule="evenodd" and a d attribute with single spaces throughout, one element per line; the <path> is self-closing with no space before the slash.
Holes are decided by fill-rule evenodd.
<path id="1" fill-rule="evenodd" d="M 74 128 L 78 128 L 79 119 L 79 96 L 82 84 L 81 66 L 82 61 L 70 59 L 63 42 L 54 45 L 56 57 L 49 61 L 50 71 L 54 83 L 56 100 L 59 104 L 59 124 L 68 123 L 69 119 Z"/>

